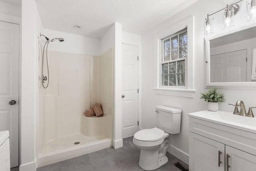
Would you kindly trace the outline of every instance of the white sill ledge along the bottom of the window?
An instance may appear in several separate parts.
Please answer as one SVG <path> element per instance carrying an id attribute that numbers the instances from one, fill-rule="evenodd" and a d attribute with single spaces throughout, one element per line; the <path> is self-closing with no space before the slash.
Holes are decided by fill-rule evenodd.
<path id="1" fill-rule="evenodd" d="M 154 88 L 155 94 L 194 98 L 194 89 Z"/>

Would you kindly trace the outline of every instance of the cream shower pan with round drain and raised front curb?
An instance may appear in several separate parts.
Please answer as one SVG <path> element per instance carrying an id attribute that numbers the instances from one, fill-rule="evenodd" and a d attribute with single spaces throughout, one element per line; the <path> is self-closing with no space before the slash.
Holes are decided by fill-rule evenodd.
<path id="1" fill-rule="evenodd" d="M 75 142 L 80 143 L 74 144 Z M 112 147 L 112 139 L 104 136 L 88 137 L 75 134 L 59 137 L 44 145 L 42 153 L 38 155 L 37 166 L 50 165 L 108 147 Z"/>

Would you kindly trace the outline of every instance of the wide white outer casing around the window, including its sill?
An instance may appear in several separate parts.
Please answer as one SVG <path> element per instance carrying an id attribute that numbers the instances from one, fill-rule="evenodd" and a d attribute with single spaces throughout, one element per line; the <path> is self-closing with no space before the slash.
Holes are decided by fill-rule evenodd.
<path id="1" fill-rule="evenodd" d="M 168 22 L 168 23 L 167 23 Z M 167 21 L 164 24 L 164 28 L 160 28 L 156 34 L 154 34 L 154 93 L 158 95 L 170 95 L 178 97 L 194 98 L 194 16 L 188 16 L 183 20 L 177 22 Z M 163 38 L 179 32 L 180 30 L 187 28 L 188 33 L 188 59 L 187 59 L 187 88 L 165 86 L 160 87 L 160 62 L 161 62 L 161 40 Z"/>

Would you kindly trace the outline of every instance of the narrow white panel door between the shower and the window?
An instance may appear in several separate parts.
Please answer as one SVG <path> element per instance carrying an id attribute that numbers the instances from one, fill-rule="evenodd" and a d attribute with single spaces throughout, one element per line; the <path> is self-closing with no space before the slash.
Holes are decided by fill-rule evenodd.
<path id="1" fill-rule="evenodd" d="M 122 138 L 138 131 L 138 46 L 122 44 Z"/>

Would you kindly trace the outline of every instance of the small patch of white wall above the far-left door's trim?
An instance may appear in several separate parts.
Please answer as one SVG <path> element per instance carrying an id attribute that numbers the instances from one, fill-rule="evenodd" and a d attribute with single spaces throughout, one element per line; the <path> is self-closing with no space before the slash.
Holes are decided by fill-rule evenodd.
<path id="1" fill-rule="evenodd" d="M 21 6 L 0 1 L 0 15 L 1 14 L 21 17 Z"/>

